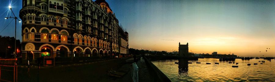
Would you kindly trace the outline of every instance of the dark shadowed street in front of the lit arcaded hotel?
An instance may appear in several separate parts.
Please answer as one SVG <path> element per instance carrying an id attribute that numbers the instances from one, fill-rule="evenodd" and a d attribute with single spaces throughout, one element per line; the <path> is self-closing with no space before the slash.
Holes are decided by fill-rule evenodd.
<path id="1" fill-rule="evenodd" d="M 50 67 L 50 68 L 18 68 L 18 82 L 131 82 L 131 71 L 124 77 L 114 78 L 107 76 L 107 70 L 118 67 L 131 68 L 130 63 L 125 59 L 99 62 L 69 67 Z M 39 78 L 38 78 L 39 77 Z"/>

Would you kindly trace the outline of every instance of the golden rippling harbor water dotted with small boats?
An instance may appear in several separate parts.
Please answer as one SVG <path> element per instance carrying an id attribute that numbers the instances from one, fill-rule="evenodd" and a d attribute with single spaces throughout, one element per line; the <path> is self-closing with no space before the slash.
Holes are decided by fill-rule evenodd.
<path id="1" fill-rule="evenodd" d="M 200 58 L 198 61 L 188 62 L 192 64 L 187 64 L 184 60 L 152 61 L 172 82 L 275 82 L 274 59 L 271 61 L 264 59 L 219 61 L 216 58 Z M 235 64 L 229 64 L 229 62 L 235 62 Z M 236 63 L 239 64 L 236 65 Z M 239 67 L 232 67 L 233 65 Z"/>

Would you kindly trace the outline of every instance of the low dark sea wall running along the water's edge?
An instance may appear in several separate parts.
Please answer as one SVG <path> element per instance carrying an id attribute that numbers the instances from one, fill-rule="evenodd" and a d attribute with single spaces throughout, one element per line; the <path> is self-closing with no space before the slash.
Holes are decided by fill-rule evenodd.
<path id="1" fill-rule="evenodd" d="M 171 82 L 171 80 L 163 74 L 162 71 L 160 71 L 159 68 L 157 68 L 151 61 L 149 61 L 145 56 L 144 56 L 145 63 L 150 71 L 150 75 L 152 76 L 152 80 L 154 82 Z"/>

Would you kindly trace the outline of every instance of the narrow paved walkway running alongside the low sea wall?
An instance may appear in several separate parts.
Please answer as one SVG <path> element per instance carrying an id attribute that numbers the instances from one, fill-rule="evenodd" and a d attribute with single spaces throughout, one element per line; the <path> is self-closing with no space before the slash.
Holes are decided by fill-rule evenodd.
<path id="1" fill-rule="evenodd" d="M 140 61 L 137 62 L 137 65 L 138 65 L 138 81 L 152 82 L 149 69 L 147 68 L 147 65 L 143 57 L 140 58 Z"/>

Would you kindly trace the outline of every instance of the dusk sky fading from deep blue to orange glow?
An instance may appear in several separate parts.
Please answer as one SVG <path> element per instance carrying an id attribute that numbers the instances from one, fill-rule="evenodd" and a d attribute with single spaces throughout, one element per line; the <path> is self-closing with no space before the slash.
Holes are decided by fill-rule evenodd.
<path id="1" fill-rule="evenodd" d="M 93 0 L 95 1 L 95 0 Z M 9 0 L 0 0 L 0 31 L 12 19 Z M 129 33 L 129 47 L 151 51 L 178 51 L 238 56 L 275 57 L 274 0 L 106 0 Z M 22 0 L 12 2 L 19 16 Z M 0 34 L 14 36 L 14 21 Z M 17 23 L 21 40 L 21 24 Z M 270 49 L 266 49 L 270 48 Z M 267 50 L 267 52 L 266 52 Z M 261 52 L 259 52 L 261 51 Z"/>

